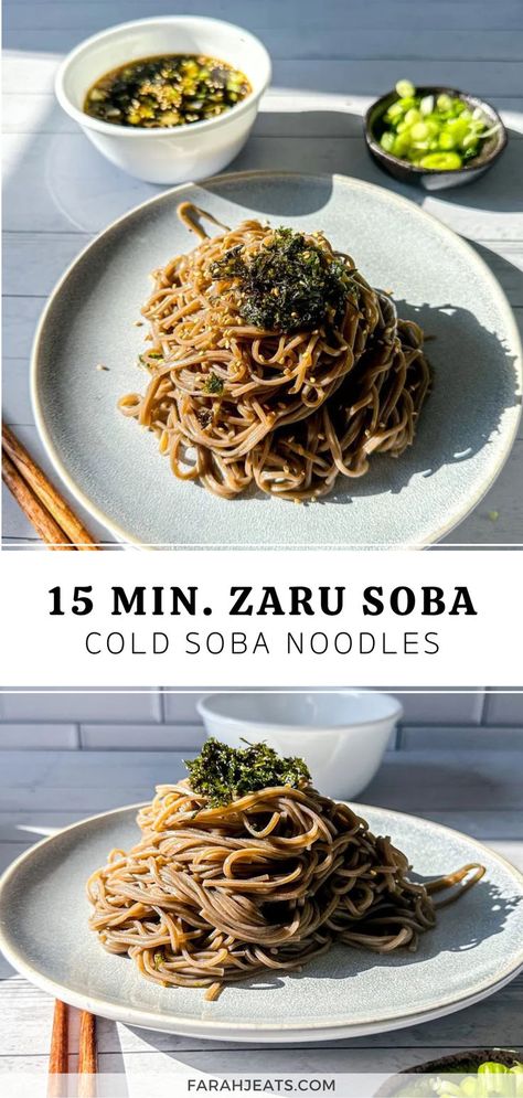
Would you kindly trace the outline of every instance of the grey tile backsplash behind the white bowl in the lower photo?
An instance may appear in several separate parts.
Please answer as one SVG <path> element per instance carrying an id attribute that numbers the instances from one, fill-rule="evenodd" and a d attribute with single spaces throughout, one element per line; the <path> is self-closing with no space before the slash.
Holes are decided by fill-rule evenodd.
<path id="1" fill-rule="evenodd" d="M 389 749 L 523 749 L 523 692 L 402 692 L 404 718 Z M 203 740 L 203 693 L 166 687 L 118 693 L 0 694 L 0 748 L 195 750 Z"/>

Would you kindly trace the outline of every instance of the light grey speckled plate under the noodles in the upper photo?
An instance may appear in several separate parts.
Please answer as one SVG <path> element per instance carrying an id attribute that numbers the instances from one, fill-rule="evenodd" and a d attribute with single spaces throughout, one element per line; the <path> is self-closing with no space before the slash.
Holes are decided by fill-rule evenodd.
<path id="1" fill-rule="evenodd" d="M 415 445 L 340 477 L 324 501 L 263 493 L 234 501 L 178 481 L 154 437 L 117 399 L 143 390 L 134 327 L 149 271 L 194 241 L 177 218 L 190 199 L 226 224 L 245 217 L 321 228 L 399 313 L 434 337 L 434 393 Z M 108 371 L 97 371 L 102 363 Z M 520 415 L 521 347 L 494 277 L 418 206 L 343 175 L 243 172 L 175 188 L 106 230 L 54 291 L 36 335 L 32 386 L 49 452 L 78 500 L 124 541 L 178 545 L 423 545 L 478 503 L 509 454 Z"/>

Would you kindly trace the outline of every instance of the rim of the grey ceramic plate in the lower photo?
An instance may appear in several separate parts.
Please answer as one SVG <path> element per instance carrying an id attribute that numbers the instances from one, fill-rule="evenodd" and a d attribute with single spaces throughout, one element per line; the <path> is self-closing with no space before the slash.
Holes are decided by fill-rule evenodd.
<path id="1" fill-rule="evenodd" d="M 96 999 L 93 996 L 85 995 L 81 992 L 70 989 L 65 984 L 55 982 L 50 977 L 42 974 L 39 969 L 25 960 L 23 953 L 19 952 L 14 942 L 11 941 L 10 936 L 3 928 L 3 915 L 2 905 L 4 900 L 4 893 L 8 886 L 11 884 L 12 878 L 17 875 L 21 866 L 25 866 L 31 860 L 39 860 L 40 852 L 43 849 L 47 849 L 50 845 L 60 842 L 61 836 L 77 831 L 81 835 L 83 830 L 88 831 L 89 825 L 97 821 L 104 820 L 106 818 L 116 817 L 118 814 L 128 815 L 130 812 L 136 813 L 138 809 L 142 808 L 143 802 L 139 804 L 128 804 L 122 808 L 111 809 L 108 812 L 98 812 L 95 815 L 90 815 L 85 820 L 77 821 L 76 823 L 70 824 L 67 828 L 63 828 L 56 834 L 51 835 L 47 839 L 43 839 L 41 842 L 36 843 L 29 851 L 25 851 L 20 855 L 3 873 L 0 877 L 0 950 L 6 956 L 7 960 L 13 964 L 13 967 L 32 983 L 40 987 L 43 991 L 53 995 L 54 998 L 62 999 L 68 1002 L 73 1006 L 79 1009 L 88 1010 L 92 1013 L 100 1014 L 103 1017 L 109 1017 L 115 1021 L 124 1022 L 128 1025 L 136 1025 L 146 1030 L 159 1030 L 170 1033 L 186 1034 L 201 1037 L 215 1037 L 216 1040 L 227 1041 L 234 1037 L 237 1041 L 250 1041 L 253 1035 L 264 1043 L 279 1043 L 286 1042 L 290 1037 L 299 1041 L 310 1041 L 321 1036 L 322 1040 L 335 1040 L 341 1036 L 362 1036 L 364 1034 L 388 1032 L 391 1030 L 402 1028 L 408 1025 L 417 1025 L 421 1022 L 430 1021 L 433 1019 L 441 1017 L 446 1014 L 453 1013 L 456 1011 L 462 1010 L 465 1006 L 469 1006 L 481 999 L 485 999 L 499 991 L 506 983 L 513 980 L 520 971 L 523 969 L 523 944 L 521 949 L 515 955 L 515 960 L 512 959 L 511 963 L 506 967 L 500 968 L 499 973 L 495 979 L 487 979 L 480 981 L 477 985 L 469 988 L 466 995 L 450 995 L 447 999 L 439 998 L 428 1003 L 423 1011 L 405 1012 L 398 1010 L 387 1017 L 382 1017 L 377 1022 L 373 1017 L 361 1020 L 357 1024 L 351 1024 L 350 1021 L 340 1023 L 339 1020 L 325 1019 L 321 1022 L 311 1022 L 310 1020 L 303 1022 L 290 1022 L 287 1024 L 274 1024 L 264 1023 L 260 1025 L 258 1022 L 241 1022 L 236 1021 L 234 1025 L 231 1022 L 220 1021 L 220 1020 L 200 1020 L 200 1019 L 189 1019 L 188 1016 L 180 1016 L 175 1014 L 158 1014 L 154 1011 L 141 1010 L 136 1006 L 128 1006 L 124 1003 L 115 1006 L 114 1002 L 106 1001 L 104 999 Z M 430 832 L 438 832 L 445 841 L 445 836 L 456 836 L 461 841 L 466 841 L 468 845 L 476 852 L 478 856 L 488 855 L 489 860 L 498 862 L 505 871 L 509 871 L 510 875 L 513 877 L 515 884 L 521 889 L 523 894 L 523 873 L 512 865 L 505 857 L 498 854 L 495 851 L 485 848 L 482 843 L 478 842 L 477 839 L 471 839 L 469 835 L 463 834 L 463 832 L 457 831 L 453 828 L 447 828 L 444 824 L 435 823 L 431 820 L 425 820 L 421 817 L 415 817 L 406 812 L 397 812 L 392 809 L 382 809 L 376 806 L 360 804 L 351 802 L 351 806 L 357 808 L 363 815 L 365 812 L 380 811 L 387 819 L 394 821 L 401 819 L 404 821 L 415 820 L 418 828 L 425 829 Z"/>

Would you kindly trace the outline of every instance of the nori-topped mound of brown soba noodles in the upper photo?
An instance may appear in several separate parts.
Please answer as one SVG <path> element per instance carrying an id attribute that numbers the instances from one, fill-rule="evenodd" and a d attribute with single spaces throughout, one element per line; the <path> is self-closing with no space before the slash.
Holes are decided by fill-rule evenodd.
<path id="1" fill-rule="evenodd" d="M 150 381 L 119 402 L 174 475 L 300 501 L 362 477 L 374 452 L 399 457 L 429 388 L 421 329 L 321 233 L 245 221 L 207 237 L 209 215 L 179 214 L 201 243 L 154 271 Z"/>

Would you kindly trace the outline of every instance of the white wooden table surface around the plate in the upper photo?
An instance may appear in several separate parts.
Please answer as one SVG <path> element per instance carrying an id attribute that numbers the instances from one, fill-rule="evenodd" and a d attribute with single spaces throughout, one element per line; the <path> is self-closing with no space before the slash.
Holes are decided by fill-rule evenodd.
<path id="1" fill-rule="evenodd" d="M 4 414 L 44 465 L 28 391 L 36 319 L 65 266 L 116 216 L 159 188 L 110 167 L 53 96 L 60 57 L 126 19 L 188 10 L 186 0 L 6 0 Z M 468 237 L 523 317 L 523 4 L 521 0 L 202 0 L 200 14 L 258 33 L 274 82 L 232 169 L 338 171 L 391 186 Z M 382 174 L 361 115 L 398 77 L 490 99 L 510 129 L 502 162 L 470 186 L 425 196 Z M 449 540 L 523 542 L 523 434 L 488 498 Z M 498 519 L 491 515 L 497 512 Z M 108 535 L 89 520 L 90 527 Z M 34 532 L 4 495 L 7 544 Z"/>

